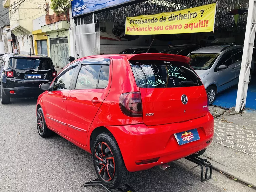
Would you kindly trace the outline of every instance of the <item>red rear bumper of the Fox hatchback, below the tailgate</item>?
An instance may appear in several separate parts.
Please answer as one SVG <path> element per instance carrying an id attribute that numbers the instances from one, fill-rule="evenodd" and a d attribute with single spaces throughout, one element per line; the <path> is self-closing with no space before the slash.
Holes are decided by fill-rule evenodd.
<path id="1" fill-rule="evenodd" d="M 206 148 L 214 134 L 214 119 L 207 115 L 185 122 L 157 126 L 145 124 L 107 126 L 117 140 L 128 171 L 140 171 L 187 157 Z M 174 133 L 197 128 L 200 140 L 179 146 Z M 159 158 L 157 162 L 138 165 L 135 161 Z"/>

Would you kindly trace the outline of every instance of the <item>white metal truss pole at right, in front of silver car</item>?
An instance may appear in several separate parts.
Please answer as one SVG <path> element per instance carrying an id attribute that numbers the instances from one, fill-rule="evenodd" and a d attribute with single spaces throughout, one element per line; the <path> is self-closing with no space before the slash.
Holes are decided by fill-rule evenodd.
<path id="1" fill-rule="evenodd" d="M 236 105 L 235 105 L 235 111 L 238 111 L 238 112 L 241 111 L 243 108 L 245 108 L 249 76 L 251 72 L 250 68 L 251 68 L 251 62 L 252 62 L 252 52 L 253 52 L 255 31 L 256 31 L 256 0 L 249 0 L 243 57 L 242 57 L 237 97 L 236 97 Z"/>

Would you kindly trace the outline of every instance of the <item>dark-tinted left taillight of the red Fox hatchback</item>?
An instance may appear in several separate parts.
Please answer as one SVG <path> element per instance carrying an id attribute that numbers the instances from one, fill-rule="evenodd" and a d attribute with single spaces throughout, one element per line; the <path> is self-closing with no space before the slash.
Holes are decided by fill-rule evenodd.
<path id="1" fill-rule="evenodd" d="M 123 93 L 119 97 L 121 111 L 130 117 L 142 117 L 140 92 Z"/>

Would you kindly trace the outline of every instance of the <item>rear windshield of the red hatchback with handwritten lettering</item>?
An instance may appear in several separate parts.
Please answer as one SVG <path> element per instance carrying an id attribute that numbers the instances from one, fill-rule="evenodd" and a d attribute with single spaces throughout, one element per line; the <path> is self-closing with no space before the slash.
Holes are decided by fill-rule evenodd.
<path id="1" fill-rule="evenodd" d="M 141 88 L 190 87 L 202 85 L 187 63 L 161 60 L 130 61 L 135 81 Z"/>

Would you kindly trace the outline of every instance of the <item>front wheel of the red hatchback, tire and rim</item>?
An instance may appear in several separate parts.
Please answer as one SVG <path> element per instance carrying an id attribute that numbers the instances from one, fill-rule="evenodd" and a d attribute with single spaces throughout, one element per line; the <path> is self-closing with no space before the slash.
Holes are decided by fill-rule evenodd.
<path id="1" fill-rule="evenodd" d="M 45 123 L 45 119 L 44 119 L 44 115 L 43 115 L 43 110 L 42 108 L 39 108 L 37 110 L 37 115 L 36 115 L 36 127 L 37 127 L 37 131 L 39 133 L 39 135 L 43 138 L 45 137 L 49 137 L 53 134 L 53 131 L 51 131 L 50 129 L 48 129 L 46 123 Z"/>

